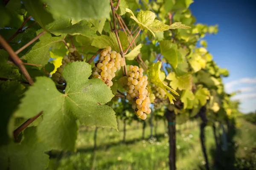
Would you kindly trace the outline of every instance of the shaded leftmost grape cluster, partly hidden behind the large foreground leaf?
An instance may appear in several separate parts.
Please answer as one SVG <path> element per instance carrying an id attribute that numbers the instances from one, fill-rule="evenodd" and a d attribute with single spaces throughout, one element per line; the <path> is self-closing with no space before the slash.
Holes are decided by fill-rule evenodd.
<path id="1" fill-rule="evenodd" d="M 74 48 L 69 48 L 68 55 L 63 57 L 61 61 L 62 65 L 57 68 L 57 71 L 55 71 L 55 73 L 52 74 L 52 79 L 55 82 L 58 82 L 58 84 L 60 85 L 66 83 L 64 77 L 62 76 L 62 72 L 64 71 L 67 63 L 75 61 L 82 61 L 82 57 Z"/>

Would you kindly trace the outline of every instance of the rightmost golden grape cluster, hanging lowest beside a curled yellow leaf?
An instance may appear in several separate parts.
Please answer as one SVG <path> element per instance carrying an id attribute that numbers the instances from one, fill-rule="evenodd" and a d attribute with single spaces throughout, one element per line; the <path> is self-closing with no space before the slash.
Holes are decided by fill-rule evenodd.
<path id="1" fill-rule="evenodd" d="M 148 77 L 143 76 L 143 69 L 136 65 L 130 65 L 127 74 L 128 77 L 125 76 L 119 79 L 127 90 L 126 99 L 132 104 L 131 107 L 134 109 L 136 115 L 140 119 L 145 120 L 147 114 L 151 112 L 149 108 L 149 92 L 147 89 Z"/>

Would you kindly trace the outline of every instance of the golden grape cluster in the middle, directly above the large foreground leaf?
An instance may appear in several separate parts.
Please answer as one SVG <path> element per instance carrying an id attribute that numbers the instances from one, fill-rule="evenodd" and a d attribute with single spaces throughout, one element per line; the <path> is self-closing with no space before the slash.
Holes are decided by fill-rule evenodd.
<path id="1" fill-rule="evenodd" d="M 93 78 L 102 79 L 106 85 L 111 87 L 113 85 L 111 80 L 116 76 L 115 72 L 124 65 L 125 61 L 121 54 L 111 51 L 111 47 L 108 46 L 101 51 L 99 60 L 93 68 L 92 76 Z"/>

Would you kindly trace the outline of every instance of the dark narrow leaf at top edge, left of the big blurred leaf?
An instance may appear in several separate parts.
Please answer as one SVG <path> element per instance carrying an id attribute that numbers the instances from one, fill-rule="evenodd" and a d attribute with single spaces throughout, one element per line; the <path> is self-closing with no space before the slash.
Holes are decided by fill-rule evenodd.
<path id="1" fill-rule="evenodd" d="M 29 14 L 42 28 L 54 21 L 52 14 L 44 8 L 44 3 L 41 3 L 40 0 L 23 0 L 22 2 Z"/>

